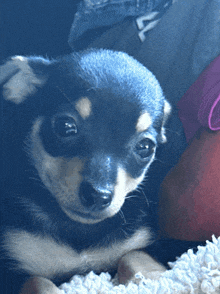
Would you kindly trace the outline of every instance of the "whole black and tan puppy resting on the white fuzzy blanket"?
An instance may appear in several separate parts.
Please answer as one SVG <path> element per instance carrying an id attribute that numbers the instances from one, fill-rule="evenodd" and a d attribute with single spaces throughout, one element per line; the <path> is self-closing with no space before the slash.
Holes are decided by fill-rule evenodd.
<path id="1" fill-rule="evenodd" d="M 156 276 L 163 268 L 135 251 L 151 234 L 147 195 L 134 192 L 166 141 L 156 78 L 125 53 L 90 50 L 13 57 L 0 82 L 2 293 L 23 277 L 110 271 L 122 256 L 120 281 Z"/>

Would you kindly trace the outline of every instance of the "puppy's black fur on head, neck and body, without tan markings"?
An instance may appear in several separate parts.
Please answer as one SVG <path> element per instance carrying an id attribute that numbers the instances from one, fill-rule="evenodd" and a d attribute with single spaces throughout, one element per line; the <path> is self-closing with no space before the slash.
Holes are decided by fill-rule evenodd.
<path id="1" fill-rule="evenodd" d="M 67 216 L 40 179 L 34 163 L 36 158 L 33 159 L 30 151 L 33 145 L 31 128 L 36 119 L 44 118 L 39 137 L 47 154 L 67 161 L 86 158 L 80 171 L 83 177 L 80 189 L 87 194 L 91 189 L 94 194 L 94 187 L 98 187 L 99 192 L 103 187 L 111 187 L 108 193 L 113 194 L 119 165 L 131 178 L 140 177 L 154 155 L 150 150 L 146 156 L 140 143 L 148 140 L 147 147 L 156 148 L 163 137 L 165 99 L 160 86 L 146 68 L 126 54 L 91 50 L 52 61 L 39 57 L 27 60 L 34 76 L 44 82 L 36 85 L 35 91 L 30 90 L 21 102 L 15 103 L 5 90 L 5 85 L 22 71 L 19 65 L 9 60 L 1 67 L 0 76 L 3 87 L 1 240 L 4 256 L 1 285 L 5 287 L 2 293 L 17 293 L 22 277 L 29 276 L 28 272 L 16 269 L 18 261 L 7 250 L 4 240 L 8 231 L 50 236 L 80 253 L 88 248 L 108 247 L 129 238 L 140 227 L 152 226 L 148 195 L 141 191 L 131 191 L 127 196 L 134 197 L 127 197 L 115 215 L 100 222 L 85 224 Z M 92 113 L 86 119 L 80 117 L 74 106 L 80 97 L 88 97 L 92 102 Z M 137 133 L 135 126 L 143 112 L 149 113 L 152 122 L 146 131 Z M 74 116 L 77 121 L 77 136 L 73 138 L 60 138 L 54 131 L 52 121 L 66 115 Z M 95 215 L 103 203 L 98 205 L 88 197 L 85 207 Z M 53 280 L 63 282 L 81 272 L 84 270 L 79 268 L 76 272 L 55 276 Z"/>

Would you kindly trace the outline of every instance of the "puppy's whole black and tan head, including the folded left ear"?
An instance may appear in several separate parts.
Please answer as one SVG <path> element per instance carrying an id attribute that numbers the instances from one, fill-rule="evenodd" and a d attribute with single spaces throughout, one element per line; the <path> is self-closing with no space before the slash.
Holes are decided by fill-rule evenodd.
<path id="1" fill-rule="evenodd" d="M 165 142 L 170 106 L 155 77 L 107 50 L 3 67 L 4 99 L 29 105 L 28 153 L 60 208 L 87 224 L 118 213 Z"/>

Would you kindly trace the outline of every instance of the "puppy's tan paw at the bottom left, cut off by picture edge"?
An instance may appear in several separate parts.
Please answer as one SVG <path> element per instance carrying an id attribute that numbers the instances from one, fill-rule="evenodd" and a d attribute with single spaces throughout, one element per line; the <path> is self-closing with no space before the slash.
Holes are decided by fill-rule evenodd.
<path id="1" fill-rule="evenodd" d="M 20 294 L 63 294 L 63 291 L 48 279 L 33 277 L 23 285 Z"/>

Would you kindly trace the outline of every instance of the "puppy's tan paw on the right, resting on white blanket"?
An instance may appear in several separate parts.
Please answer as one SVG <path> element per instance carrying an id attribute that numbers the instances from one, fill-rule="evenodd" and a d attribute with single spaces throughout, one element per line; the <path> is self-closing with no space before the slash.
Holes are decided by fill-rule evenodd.
<path id="1" fill-rule="evenodd" d="M 166 268 L 142 251 L 131 251 L 124 255 L 118 265 L 118 280 L 120 284 L 130 281 L 138 283 L 135 277 L 138 272 L 146 279 L 157 280 Z"/>

